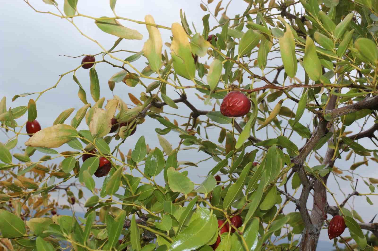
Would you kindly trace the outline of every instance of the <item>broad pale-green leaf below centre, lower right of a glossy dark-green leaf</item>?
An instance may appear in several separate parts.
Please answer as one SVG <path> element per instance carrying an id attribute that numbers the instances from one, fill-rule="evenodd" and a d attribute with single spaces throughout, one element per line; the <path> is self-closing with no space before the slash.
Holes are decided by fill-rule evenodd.
<path id="1" fill-rule="evenodd" d="M 170 190 L 185 195 L 193 191 L 194 183 L 191 179 L 176 171 L 175 168 L 169 167 L 167 170 L 167 176 Z"/>

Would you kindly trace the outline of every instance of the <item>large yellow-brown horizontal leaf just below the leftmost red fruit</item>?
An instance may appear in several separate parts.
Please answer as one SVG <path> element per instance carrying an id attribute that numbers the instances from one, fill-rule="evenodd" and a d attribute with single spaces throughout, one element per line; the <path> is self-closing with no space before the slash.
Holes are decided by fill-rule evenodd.
<path id="1" fill-rule="evenodd" d="M 76 137 L 77 131 L 75 128 L 65 124 L 59 124 L 46 127 L 34 133 L 34 135 L 25 142 L 25 145 L 31 147 L 55 148 L 60 147 Z"/>

